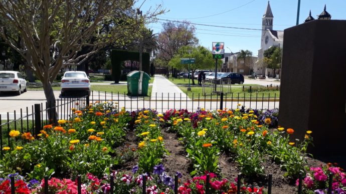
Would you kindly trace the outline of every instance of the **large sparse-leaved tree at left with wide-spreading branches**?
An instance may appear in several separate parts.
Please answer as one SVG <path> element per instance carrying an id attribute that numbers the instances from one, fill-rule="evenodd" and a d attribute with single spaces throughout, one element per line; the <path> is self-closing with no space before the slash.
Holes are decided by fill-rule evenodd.
<path id="1" fill-rule="evenodd" d="M 123 43 L 138 25 L 133 0 L 2 0 L 1 37 L 27 61 L 42 81 L 49 105 L 55 103 L 51 82 L 68 64 L 81 64 L 109 42 Z M 103 24 L 113 19 L 109 31 Z M 8 30 L 18 31 L 19 47 Z M 89 50 L 80 53 L 84 46 Z M 49 114 L 56 118 L 53 109 Z M 54 119 L 55 120 L 55 119 Z M 52 121 L 54 121 L 52 120 Z"/>

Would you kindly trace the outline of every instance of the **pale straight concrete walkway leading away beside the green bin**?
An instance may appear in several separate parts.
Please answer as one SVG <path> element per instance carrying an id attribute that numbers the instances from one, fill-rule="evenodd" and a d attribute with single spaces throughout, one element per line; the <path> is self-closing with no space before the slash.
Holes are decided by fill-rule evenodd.
<path id="1" fill-rule="evenodd" d="M 151 100 L 155 99 L 174 99 L 174 98 L 190 98 L 174 83 L 169 81 L 163 75 L 155 74 L 154 82 L 152 83 L 151 89 Z"/>

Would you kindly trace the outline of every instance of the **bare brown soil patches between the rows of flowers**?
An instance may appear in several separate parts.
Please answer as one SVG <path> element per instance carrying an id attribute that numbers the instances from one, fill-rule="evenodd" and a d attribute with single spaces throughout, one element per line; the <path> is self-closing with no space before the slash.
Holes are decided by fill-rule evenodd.
<path id="1" fill-rule="evenodd" d="M 177 171 L 183 174 L 181 183 L 187 179 L 191 179 L 190 172 L 193 170 L 190 160 L 186 157 L 184 145 L 178 140 L 176 133 L 166 132 L 162 129 L 162 136 L 164 139 L 165 148 L 168 150 L 169 155 L 162 158 L 162 164 L 165 167 L 165 171 L 173 176 Z M 134 135 L 134 131 L 130 130 L 126 134 L 125 143 L 119 147 L 118 150 L 122 154 L 126 154 L 126 150 L 137 148 L 137 139 Z M 137 158 L 127 158 L 124 164 L 114 166 L 114 168 L 125 170 L 130 172 L 132 166 L 137 164 Z M 319 166 L 323 164 L 322 161 L 313 158 L 307 158 L 309 166 Z M 269 156 L 265 157 L 265 161 L 262 164 L 264 166 L 265 174 L 272 174 L 272 193 L 296 193 L 295 179 L 288 179 L 283 176 L 284 171 L 280 169 L 280 165 L 274 163 Z M 230 181 L 234 181 L 240 172 L 237 163 L 233 160 L 233 155 L 229 153 L 221 153 L 219 157 L 220 175 L 227 178 Z M 255 176 L 244 177 L 247 185 L 251 186 L 263 186 L 265 190 L 268 188 L 268 176 Z"/>

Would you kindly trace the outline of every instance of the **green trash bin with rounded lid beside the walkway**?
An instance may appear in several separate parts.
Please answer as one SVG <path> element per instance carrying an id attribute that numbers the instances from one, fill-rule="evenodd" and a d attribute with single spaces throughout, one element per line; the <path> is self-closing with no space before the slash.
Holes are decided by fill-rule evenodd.
<path id="1" fill-rule="evenodd" d="M 139 70 L 131 71 L 126 76 L 129 95 L 147 95 L 150 76 Z"/>

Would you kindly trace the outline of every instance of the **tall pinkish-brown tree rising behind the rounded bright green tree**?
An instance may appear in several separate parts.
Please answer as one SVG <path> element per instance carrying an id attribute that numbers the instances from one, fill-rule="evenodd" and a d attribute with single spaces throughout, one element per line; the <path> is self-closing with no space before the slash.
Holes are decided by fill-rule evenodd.
<path id="1" fill-rule="evenodd" d="M 156 55 L 156 64 L 168 67 L 168 62 L 179 48 L 183 46 L 195 46 L 198 39 L 195 36 L 196 28 L 188 22 L 171 22 L 162 24 L 163 30 L 158 34 L 158 53 Z"/>

